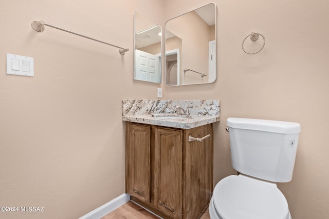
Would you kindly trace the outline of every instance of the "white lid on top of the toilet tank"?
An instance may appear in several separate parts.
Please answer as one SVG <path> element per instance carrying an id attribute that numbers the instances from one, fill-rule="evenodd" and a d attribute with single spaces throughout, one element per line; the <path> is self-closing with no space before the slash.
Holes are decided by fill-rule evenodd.
<path id="1" fill-rule="evenodd" d="M 301 126 L 298 123 L 274 121 L 274 120 L 259 120 L 255 118 L 228 118 L 227 126 L 236 129 L 248 129 L 275 132 L 282 134 L 295 134 L 301 131 Z"/>

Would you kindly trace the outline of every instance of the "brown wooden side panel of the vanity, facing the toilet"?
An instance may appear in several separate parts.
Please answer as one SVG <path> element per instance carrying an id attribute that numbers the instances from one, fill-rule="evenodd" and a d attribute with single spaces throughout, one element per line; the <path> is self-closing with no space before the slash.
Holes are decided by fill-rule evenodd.
<path id="1" fill-rule="evenodd" d="M 189 142 L 189 135 L 202 138 L 203 142 Z M 208 124 L 185 131 L 183 176 L 183 216 L 198 218 L 209 205 L 212 195 L 213 175 L 213 125 Z"/>

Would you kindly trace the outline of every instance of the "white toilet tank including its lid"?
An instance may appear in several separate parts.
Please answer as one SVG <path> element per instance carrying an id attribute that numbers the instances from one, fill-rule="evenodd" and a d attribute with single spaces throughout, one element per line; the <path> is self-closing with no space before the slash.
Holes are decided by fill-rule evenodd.
<path id="1" fill-rule="evenodd" d="M 228 118 L 227 126 L 235 170 L 271 182 L 291 181 L 300 124 Z"/>

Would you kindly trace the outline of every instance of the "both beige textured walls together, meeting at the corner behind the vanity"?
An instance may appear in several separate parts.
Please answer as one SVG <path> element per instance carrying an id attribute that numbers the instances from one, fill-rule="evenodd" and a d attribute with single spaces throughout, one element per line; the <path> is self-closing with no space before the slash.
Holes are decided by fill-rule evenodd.
<path id="1" fill-rule="evenodd" d="M 163 21 L 208 3 L 166 0 Z M 296 219 L 329 217 L 329 15 L 327 1 L 214 1 L 218 74 L 208 85 L 166 87 L 133 81 L 133 14 L 163 24 L 162 1 L 0 2 L 0 206 L 44 206 L 6 218 L 77 218 L 124 193 L 121 99 L 220 99 L 214 129 L 214 183 L 234 174 L 226 118 L 302 125 L 293 181 L 279 184 Z M 184 6 L 185 9 L 181 9 Z M 34 20 L 127 47 L 116 48 Z M 266 37 L 247 55 L 251 31 Z M 6 75 L 6 53 L 34 57 L 34 77 Z"/>

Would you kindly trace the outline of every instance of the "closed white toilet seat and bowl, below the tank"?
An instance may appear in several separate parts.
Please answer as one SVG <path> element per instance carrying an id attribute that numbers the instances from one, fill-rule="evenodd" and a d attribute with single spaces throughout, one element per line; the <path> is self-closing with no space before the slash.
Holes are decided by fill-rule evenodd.
<path id="1" fill-rule="evenodd" d="M 212 196 L 223 219 L 287 219 L 288 203 L 275 183 L 240 175 L 223 178 Z"/>

